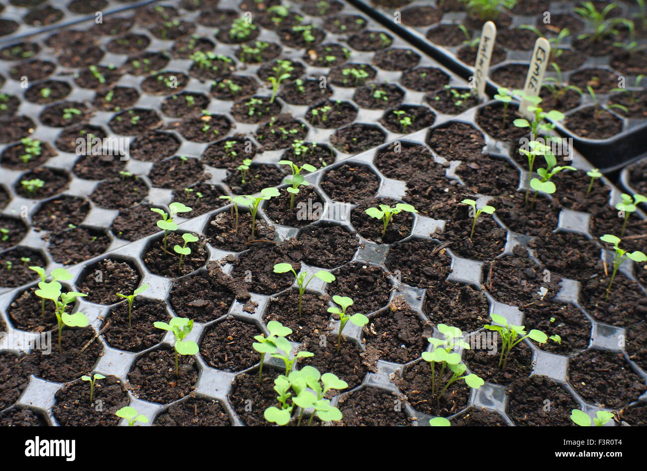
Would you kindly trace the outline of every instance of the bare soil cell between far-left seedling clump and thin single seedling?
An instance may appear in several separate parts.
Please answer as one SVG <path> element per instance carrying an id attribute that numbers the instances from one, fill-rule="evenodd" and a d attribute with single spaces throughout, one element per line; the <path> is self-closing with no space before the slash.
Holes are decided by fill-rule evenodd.
<path id="1" fill-rule="evenodd" d="M 87 294 L 83 301 L 114 304 L 122 300 L 115 293 L 132 294 L 142 276 L 129 259 L 104 258 L 86 265 L 76 280 L 76 287 Z"/>

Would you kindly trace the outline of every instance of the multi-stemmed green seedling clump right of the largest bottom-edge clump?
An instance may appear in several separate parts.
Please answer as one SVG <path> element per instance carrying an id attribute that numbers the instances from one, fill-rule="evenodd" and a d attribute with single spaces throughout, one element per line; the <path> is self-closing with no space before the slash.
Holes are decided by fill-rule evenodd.
<path id="1" fill-rule="evenodd" d="M 485 381 L 474 373 L 463 376 L 467 367 L 461 363 L 461 355 L 452 351 L 470 348 L 470 345 L 463 340 L 461 329 L 442 323 L 437 325 L 437 329 L 444 338 L 428 338 L 427 340 L 432 344 L 433 349 L 422 353 L 422 360 L 429 362 L 432 369 L 432 396 L 439 401 L 447 388 L 458 380 L 465 381 L 465 384 L 472 389 L 479 389 L 483 386 Z M 440 369 L 438 374 L 436 374 L 437 367 Z"/>

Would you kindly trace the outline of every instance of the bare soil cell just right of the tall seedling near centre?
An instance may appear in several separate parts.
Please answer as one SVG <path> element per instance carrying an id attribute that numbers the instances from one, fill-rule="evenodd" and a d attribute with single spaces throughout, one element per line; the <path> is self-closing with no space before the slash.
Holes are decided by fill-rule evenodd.
<path id="1" fill-rule="evenodd" d="M 347 163 L 325 171 L 320 186 L 334 201 L 359 203 L 377 194 L 380 178 L 367 165 Z"/>

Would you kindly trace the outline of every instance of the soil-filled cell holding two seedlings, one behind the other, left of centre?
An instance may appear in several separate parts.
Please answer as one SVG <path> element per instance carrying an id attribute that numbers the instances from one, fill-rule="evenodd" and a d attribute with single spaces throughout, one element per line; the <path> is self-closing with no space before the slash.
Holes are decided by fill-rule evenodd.
<path id="1" fill-rule="evenodd" d="M 164 236 L 159 236 L 151 239 L 146 244 L 142 254 L 142 261 L 149 272 L 159 276 L 176 278 L 177 276 L 190 274 L 206 264 L 209 257 L 205 245 L 206 238 L 198 236 L 199 241 L 186 243 L 182 234 L 183 232 L 179 231 L 170 232 L 166 239 L 164 239 Z M 165 243 L 166 245 L 164 245 Z M 179 252 L 175 252 L 175 245 L 190 248 L 190 254 L 181 257 Z"/>

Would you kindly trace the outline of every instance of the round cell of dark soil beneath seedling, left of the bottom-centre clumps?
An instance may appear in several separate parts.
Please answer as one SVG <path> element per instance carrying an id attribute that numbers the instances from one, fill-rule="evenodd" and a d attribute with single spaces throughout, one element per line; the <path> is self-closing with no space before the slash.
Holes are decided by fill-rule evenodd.
<path id="1" fill-rule="evenodd" d="M 135 360 L 128 373 L 130 389 L 140 399 L 168 404 L 182 399 L 195 388 L 198 371 L 195 358 L 179 355 L 179 377 L 175 355 L 170 349 L 149 351 Z"/>

